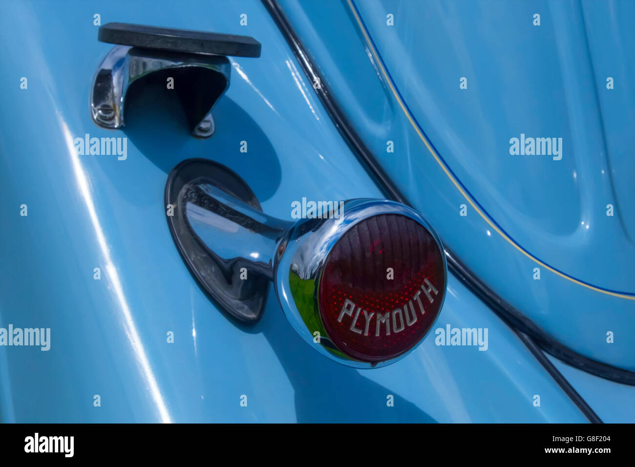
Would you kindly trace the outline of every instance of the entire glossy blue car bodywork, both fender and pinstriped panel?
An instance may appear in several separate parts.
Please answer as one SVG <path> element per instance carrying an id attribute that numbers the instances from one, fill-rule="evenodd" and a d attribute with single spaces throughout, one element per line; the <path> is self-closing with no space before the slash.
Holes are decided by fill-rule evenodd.
<path id="1" fill-rule="evenodd" d="M 632 372 L 635 91 L 625 81 L 634 10 L 611 5 L 621 13 L 592 2 L 280 2 L 324 84 L 444 245 L 567 348 Z M 231 168 L 281 219 L 303 197 L 384 197 L 265 4 L 15 1 L 0 10 L 0 327 L 51 330 L 47 351 L 0 346 L 0 421 L 588 421 L 456 274 L 435 328 L 486 328 L 487 348 L 441 346 L 431 332 L 373 370 L 309 348 L 275 294 L 246 325 L 197 286 L 165 221 L 163 189 L 180 161 Z M 262 55 L 229 57 L 210 139 L 192 138 L 178 105 L 144 91 L 126 126 L 106 130 L 89 112 L 93 75 L 112 48 L 97 41 L 95 14 L 101 24 L 253 36 Z M 605 74 L 616 83 L 610 95 Z M 563 137 L 563 158 L 511 156 L 520 133 Z M 74 140 L 86 134 L 126 137 L 126 158 L 78 155 Z M 549 358 L 603 421 L 635 420 L 635 388 Z"/>

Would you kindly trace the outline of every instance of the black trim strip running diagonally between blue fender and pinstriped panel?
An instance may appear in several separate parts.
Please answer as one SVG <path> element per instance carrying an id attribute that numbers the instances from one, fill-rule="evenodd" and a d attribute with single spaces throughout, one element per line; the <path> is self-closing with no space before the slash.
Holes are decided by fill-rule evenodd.
<path id="1" fill-rule="evenodd" d="M 267 11 L 269 11 L 269 14 L 274 22 L 276 22 L 277 27 L 282 32 L 307 77 L 313 83 L 316 82 L 316 78 L 319 79 L 320 86 L 315 89 L 315 91 L 324 105 L 324 108 L 333 120 L 333 123 L 337 126 L 337 129 L 351 148 L 351 151 L 357 156 L 361 165 L 363 165 L 366 171 L 371 174 L 377 183 L 377 186 L 380 187 L 382 193 L 384 193 L 384 196 L 391 200 L 398 201 L 399 203 L 411 206 L 403 193 L 401 193 L 401 191 L 399 191 L 399 189 L 392 183 L 392 180 L 388 177 L 387 173 L 385 173 L 382 166 L 380 166 L 377 162 L 377 159 L 375 159 L 366 144 L 364 144 L 363 140 L 359 137 L 356 130 L 349 123 L 344 112 L 342 112 L 337 104 L 337 100 L 328 90 L 328 86 L 326 86 L 326 83 L 324 82 L 324 79 L 319 73 L 317 67 L 313 64 L 311 57 L 304 49 L 304 46 L 300 42 L 297 34 L 295 34 L 295 31 L 291 28 L 288 20 L 284 17 L 284 13 L 277 4 L 276 0 L 262 0 L 262 3 Z M 460 262 L 455 255 L 448 250 L 448 248 L 446 248 L 446 257 L 448 260 L 448 267 L 452 273 L 454 273 L 470 290 L 472 290 L 472 292 L 478 295 L 481 300 L 488 304 L 488 306 L 490 306 L 490 308 L 502 320 L 504 320 L 509 327 L 517 333 L 526 335 L 528 340 L 521 339 L 525 342 L 525 344 L 531 341 L 533 346 L 537 344 L 540 348 L 544 349 L 544 351 L 558 358 L 558 360 L 561 360 L 567 365 L 593 374 L 594 376 L 635 386 L 635 372 L 630 372 L 628 370 L 614 367 L 613 365 L 592 360 L 591 358 L 580 355 L 579 353 L 559 343 L 556 339 L 535 325 L 533 321 L 523 315 L 520 311 L 498 297 L 493 290 L 487 287 L 483 281 L 479 280 L 475 274 L 473 274 L 462 262 Z M 530 348 L 529 345 L 528 348 Z M 530 348 L 530 350 L 533 353 L 532 348 Z M 542 356 L 544 357 L 544 355 Z M 540 360 L 538 356 L 537 358 Z M 540 363 L 543 362 L 541 361 Z M 551 362 L 549 362 L 549 360 L 547 360 L 547 363 L 548 365 L 543 363 L 543 366 L 547 371 L 549 371 L 558 384 L 560 384 L 560 380 L 563 379 L 563 376 L 551 364 Z M 572 398 L 573 402 L 580 407 L 577 400 L 581 398 L 575 389 L 573 389 L 568 382 L 565 386 L 563 386 L 563 384 L 560 384 L 560 386 Z M 584 403 L 584 405 L 585 407 L 588 407 L 586 403 Z M 582 410 L 582 408 L 580 410 Z M 590 412 L 585 412 L 585 415 L 589 418 L 589 420 L 599 420 L 590 407 L 589 411 Z"/>

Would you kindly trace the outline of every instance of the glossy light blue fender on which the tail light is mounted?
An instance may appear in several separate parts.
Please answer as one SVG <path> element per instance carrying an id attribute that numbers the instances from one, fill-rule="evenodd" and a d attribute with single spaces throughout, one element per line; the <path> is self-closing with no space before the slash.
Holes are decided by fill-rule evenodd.
<path id="1" fill-rule="evenodd" d="M 247 327 L 197 287 L 163 206 L 168 172 L 184 159 L 229 166 L 265 212 L 282 219 L 303 196 L 380 196 L 260 3 L 0 8 L 0 60 L 11 64 L 0 76 L 0 327 L 51 329 L 48 351 L 0 347 L 1 421 L 585 421 L 516 335 L 453 276 L 437 325 L 488 328 L 487 350 L 437 346 L 431 334 L 378 370 L 346 368 L 309 348 L 274 294 L 262 320 Z M 126 127 L 105 130 L 89 110 L 93 73 L 110 50 L 97 42 L 95 13 L 102 24 L 247 34 L 262 43 L 262 56 L 231 59 L 231 85 L 208 140 L 190 136 L 161 88 L 140 90 L 127 104 Z M 74 139 L 86 133 L 127 138 L 126 159 L 77 155 Z M 248 152 L 239 151 L 243 140 Z"/>

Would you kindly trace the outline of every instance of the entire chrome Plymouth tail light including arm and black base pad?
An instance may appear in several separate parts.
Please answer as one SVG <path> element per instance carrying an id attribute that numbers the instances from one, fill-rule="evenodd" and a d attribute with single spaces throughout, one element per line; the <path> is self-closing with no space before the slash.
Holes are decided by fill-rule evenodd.
<path id="1" fill-rule="evenodd" d="M 273 281 L 298 334 L 344 365 L 374 368 L 403 358 L 443 305 L 441 242 L 400 203 L 331 203 L 321 217 L 288 222 L 263 213 L 240 177 L 206 159 L 170 173 L 165 201 L 175 245 L 220 308 L 257 321 Z"/>

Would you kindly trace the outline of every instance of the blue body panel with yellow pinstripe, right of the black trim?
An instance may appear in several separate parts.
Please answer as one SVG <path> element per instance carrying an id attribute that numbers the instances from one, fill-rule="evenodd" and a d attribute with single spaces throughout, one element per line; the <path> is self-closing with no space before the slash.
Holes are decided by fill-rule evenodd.
<path id="1" fill-rule="evenodd" d="M 444 245 L 565 346 L 635 370 L 635 5 L 281 3 Z M 521 133 L 562 138 L 562 158 L 511 155 Z"/>

